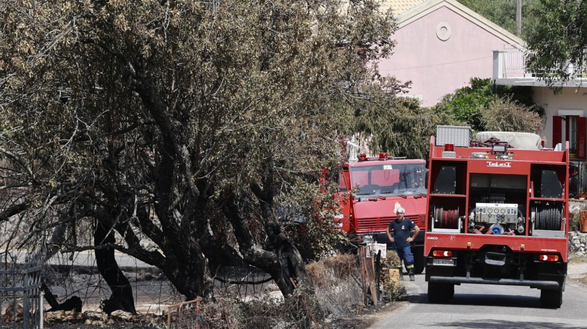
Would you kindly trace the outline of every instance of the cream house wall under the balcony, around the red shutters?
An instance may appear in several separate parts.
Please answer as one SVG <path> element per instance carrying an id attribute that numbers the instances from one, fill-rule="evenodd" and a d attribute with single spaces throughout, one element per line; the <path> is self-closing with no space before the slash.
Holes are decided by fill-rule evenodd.
<path id="1" fill-rule="evenodd" d="M 552 116 L 559 115 L 559 110 L 582 111 L 582 115 L 587 116 L 587 88 L 582 87 L 576 91 L 575 87 L 564 87 L 562 92 L 554 94 L 548 87 L 532 87 L 534 102 L 545 109 L 545 122 L 540 135 L 546 138 L 545 146 L 553 148 L 552 145 Z M 575 92 L 576 91 L 576 92 Z M 562 122 L 562 134 L 565 134 L 565 122 Z M 563 139 L 568 140 L 568 139 Z"/>

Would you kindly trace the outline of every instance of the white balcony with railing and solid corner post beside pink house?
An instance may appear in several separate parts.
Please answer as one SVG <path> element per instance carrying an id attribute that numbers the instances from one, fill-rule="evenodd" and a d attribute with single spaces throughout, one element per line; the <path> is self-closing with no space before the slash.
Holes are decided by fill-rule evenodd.
<path id="1" fill-rule="evenodd" d="M 528 71 L 526 67 L 526 53 L 522 44 L 505 44 L 504 49 L 493 51 L 493 80 L 499 85 L 532 85 L 548 87 L 544 79 Z M 581 87 L 587 84 L 587 59 L 581 66 L 573 67 L 571 63 L 565 66 L 571 75 L 568 81 L 553 81 L 555 87 Z M 555 72 L 546 72 L 549 77 L 556 77 Z"/>

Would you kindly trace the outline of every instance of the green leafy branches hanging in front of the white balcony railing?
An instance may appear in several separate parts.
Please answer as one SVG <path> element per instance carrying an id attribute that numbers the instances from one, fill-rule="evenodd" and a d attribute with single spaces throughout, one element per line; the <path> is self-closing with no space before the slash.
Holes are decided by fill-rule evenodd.
<path id="1" fill-rule="evenodd" d="M 535 9 L 539 24 L 528 38 L 529 71 L 549 84 L 587 76 L 587 1 L 539 3 Z"/>

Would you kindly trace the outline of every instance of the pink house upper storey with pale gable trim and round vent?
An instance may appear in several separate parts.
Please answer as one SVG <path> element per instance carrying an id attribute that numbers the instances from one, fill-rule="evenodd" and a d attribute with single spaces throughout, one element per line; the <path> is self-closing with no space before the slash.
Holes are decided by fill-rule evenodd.
<path id="1" fill-rule="evenodd" d="M 397 46 L 379 63 L 379 71 L 411 80 L 409 95 L 425 107 L 468 85 L 472 77 L 491 78 L 492 51 L 522 44 L 456 0 L 388 0 L 387 5 L 394 12 L 411 8 L 396 16 L 398 29 L 392 37 Z"/>

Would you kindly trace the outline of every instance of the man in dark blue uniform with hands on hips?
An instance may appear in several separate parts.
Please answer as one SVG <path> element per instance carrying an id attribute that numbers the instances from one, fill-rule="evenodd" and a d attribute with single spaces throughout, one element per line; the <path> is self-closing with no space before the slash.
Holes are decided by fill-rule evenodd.
<path id="1" fill-rule="evenodd" d="M 414 277 L 414 255 L 411 253 L 410 243 L 418 236 L 420 228 L 410 218 L 404 218 L 406 210 L 403 207 L 397 207 L 397 218 L 389 223 L 386 229 L 387 238 L 392 242 L 392 248 L 397 252 L 400 260 L 406 265 L 410 281 L 416 280 Z M 410 237 L 411 229 L 414 229 L 414 235 Z M 393 229 L 393 237 L 390 230 Z M 400 263 L 400 273 L 402 272 L 402 264 Z"/>

